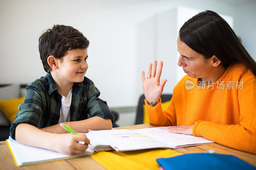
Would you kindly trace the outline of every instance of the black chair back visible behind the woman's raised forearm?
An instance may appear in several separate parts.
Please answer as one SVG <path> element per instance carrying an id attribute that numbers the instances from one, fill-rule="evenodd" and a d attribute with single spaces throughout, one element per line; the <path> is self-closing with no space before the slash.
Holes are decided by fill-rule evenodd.
<path id="1" fill-rule="evenodd" d="M 162 94 L 161 95 L 161 102 L 162 103 L 165 102 L 165 101 L 171 100 L 171 99 L 172 99 L 172 94 Z M 142 124 L 143 123 L 143 117 L 144 117 L 144 115 L 143 115 L 143 104 L 145 104 L 144 100 L 145 100 L 145 96 L 144 96 L 144 94 L 142 94 L 140 96 L 138 107 L 137 107 L 135 124 Z"/>

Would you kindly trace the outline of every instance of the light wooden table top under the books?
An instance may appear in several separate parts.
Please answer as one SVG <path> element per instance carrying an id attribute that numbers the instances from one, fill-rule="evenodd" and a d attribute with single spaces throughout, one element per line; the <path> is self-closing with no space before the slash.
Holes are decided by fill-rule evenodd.
<path id="1" fill-rule="evenodd" d="M 143 128 L 153 128 L 157 127 L 151 124 L 140 124 L 140 125 L 132 125 L 132 126 L 124 126 L 119 127 L 115 129 L 143 129 Z M 232 149 L 226 146 L 223 146 L 221 144 L 205 144 L 205 145 L 199 145 L 199 146 L 191 146 L 187 148 L 181 148 L 181 149 L 174 149 L 176 152 L 181 153 L 201 153 L 204 150 L 214 150 L 216 153 L 220 154 L 230 154 L 234 155 L 249 164 L 256 167 L 256 154 L 248 153 L 239 151 L 236 149 Z M 23 167 L 17 167 L 12 159 L 12 155 L 9 151 L 9 148 L 5 141 L 0 142 L 0 169 L 61 169 L 61 170 L 76 170 L 76 169 L 105 169 L 103 166 L 98 164 L 94 159 L 92 159 L 90 156 L 85 156 L 81 158 L 74 158 L 74 159 L 67 159 L 67 160 L 61 160 L 61 161 L 54 161 L 49 163 L 42 163 L 37 165 L 30 165 L 30 166 L 23 166 Z"/>

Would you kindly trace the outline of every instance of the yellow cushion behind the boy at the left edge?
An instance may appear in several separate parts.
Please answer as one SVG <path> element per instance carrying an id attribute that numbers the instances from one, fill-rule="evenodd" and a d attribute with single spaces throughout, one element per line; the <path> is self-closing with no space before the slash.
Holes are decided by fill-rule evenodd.
<path id="1" fill-rule="evenodd" d="M 13 123 L 16 113 L 19 112 L 18 106 L 24 103 L 24 99 L 25 96 L 11 100 L 0 100 L 0 108 L 10 123 Z"/>

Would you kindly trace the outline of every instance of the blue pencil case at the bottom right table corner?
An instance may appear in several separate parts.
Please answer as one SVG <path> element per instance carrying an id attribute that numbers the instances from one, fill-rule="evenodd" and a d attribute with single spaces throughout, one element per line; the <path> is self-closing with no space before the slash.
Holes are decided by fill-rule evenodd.
<path id="1" fill-rule="evenodd" d="M 171 158 L 156 159 L 165 170 L 173 169 L 223 169 L 223 170 L 255 170 L 256 168 L 247 162 L 233 156 L 216 153 L 191 153 Z"/>

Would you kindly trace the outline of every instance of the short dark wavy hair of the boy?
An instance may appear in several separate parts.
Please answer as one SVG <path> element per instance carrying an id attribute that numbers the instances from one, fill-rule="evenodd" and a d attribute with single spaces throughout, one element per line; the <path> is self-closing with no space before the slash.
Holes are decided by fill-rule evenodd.
<path id="1" fill-rule="evenodd" d="M 47 58 L 53 55 L 62 61 L 68 55 L 68 50 L 88 48 L 89 41 L 84 35 L 72 26 L 53 25 L 45 30 L 39 37 L 39 53 L 44 70 L 50 72 L 52 68 L 47 63 Z"/>

